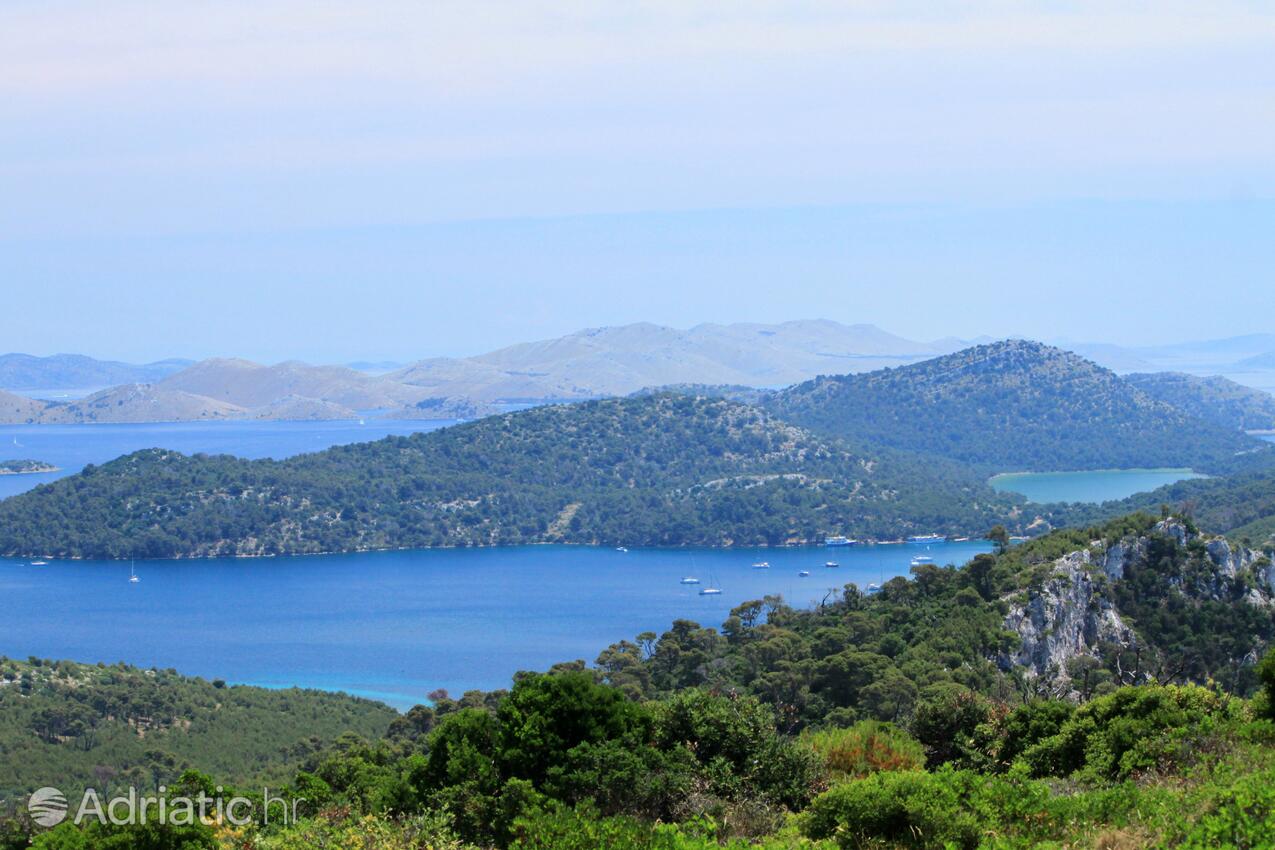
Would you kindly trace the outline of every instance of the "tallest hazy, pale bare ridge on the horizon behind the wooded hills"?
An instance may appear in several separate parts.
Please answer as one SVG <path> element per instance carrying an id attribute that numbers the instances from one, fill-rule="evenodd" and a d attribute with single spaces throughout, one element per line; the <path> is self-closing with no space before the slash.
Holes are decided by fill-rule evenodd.
<path id="1" fill-rule="evenodd" d="M 649 322 L 593 328 L 470 358 L 435 358 L 391 373 L 431 395 L 482 401 L 588 399 L 672 384 L 783 386 L 825 372 L 910 363 L 959 348 L 917 343 L 872 325 L 789 321 L 705 324 L 678 330 Z"/>

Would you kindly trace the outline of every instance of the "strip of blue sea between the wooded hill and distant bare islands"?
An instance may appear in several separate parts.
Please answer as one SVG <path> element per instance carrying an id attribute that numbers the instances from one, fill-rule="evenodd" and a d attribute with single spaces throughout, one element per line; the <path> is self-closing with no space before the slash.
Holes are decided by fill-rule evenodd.
<path id="1" fill-rule="evenodd" d="M 140 449 L 280 459 L 446 424 L 451 423 L 368 419 L 366 426 L 351 421 L 0 426 L 0 460 L 43 460 L 61 468 L 46 475 L 0 475 L 0 498 L 76 473 L 85 464 L 102 464 Z"/>

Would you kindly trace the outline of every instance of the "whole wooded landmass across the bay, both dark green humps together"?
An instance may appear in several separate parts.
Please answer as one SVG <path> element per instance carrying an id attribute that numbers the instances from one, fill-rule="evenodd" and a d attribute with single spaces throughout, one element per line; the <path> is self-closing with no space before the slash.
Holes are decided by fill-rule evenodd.
<path id="1" fill-rule="evenodd" d="M 989 474 L 1174 465 L 1261 475 L 1272 455 L 1084 358 L 1009 340 L 778 393 L 640 393 L 278 461 L 140 451 L 0 502 L 0 552 L 738 547 L 969 537 L 993 525 L 1035 534 L 1114 512 L 1026 506 L 988 487 Z"/>

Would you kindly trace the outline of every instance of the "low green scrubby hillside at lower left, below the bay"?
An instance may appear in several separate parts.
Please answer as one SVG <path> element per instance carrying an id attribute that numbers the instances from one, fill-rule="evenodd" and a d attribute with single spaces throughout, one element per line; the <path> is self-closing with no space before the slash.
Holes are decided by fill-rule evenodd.
<path id="1" fill-rule="evenodd" d="M 0 799 L 171 781 L 198 765 L 233 782 L 291 777 L 343 733 L 382 735 L 391 709 L 321 691 L 227 687 L 172 670 L 0 658 Z"/>

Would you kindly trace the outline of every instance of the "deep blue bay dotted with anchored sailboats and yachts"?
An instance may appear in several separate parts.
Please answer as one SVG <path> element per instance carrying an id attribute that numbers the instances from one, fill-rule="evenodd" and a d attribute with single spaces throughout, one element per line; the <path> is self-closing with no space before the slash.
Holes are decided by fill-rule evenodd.
<path id="1" fill-rule="evenodd" d="M 518 547 L 274 559 L 0 559 L 0 654 L 124 660 L 207 678 L 339 689 L 405 707 L 437 687 L 509 684 L 516 670 L 599 650 L 678 617 L 718 626 L 765 594 L 797 605 L 907 575 L 928 553 L 964 563 L 984 542 L 839 549 Z M 764 558 L 770 570 L 754 570 Z M 841 566 L 827 570 L 829 558 Z M 798 577 L 810 570 L 808 579 Z M 717 582 L 720 596 L 678 584 Z M 701 586 L 705 586 L 701 585 Z"/>

